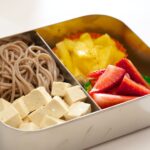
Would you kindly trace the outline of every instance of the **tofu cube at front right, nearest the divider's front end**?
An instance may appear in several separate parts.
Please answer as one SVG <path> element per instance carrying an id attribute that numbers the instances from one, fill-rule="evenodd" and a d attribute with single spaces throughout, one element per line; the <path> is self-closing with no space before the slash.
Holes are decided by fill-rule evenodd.
<path id="1" fill-rule="evenodd" d="M 65 115 L 66 120 L 77 118 L 91 112 L 91 105 L 84 102 L 76 102 L 69 108 L 68 113 Z"/>

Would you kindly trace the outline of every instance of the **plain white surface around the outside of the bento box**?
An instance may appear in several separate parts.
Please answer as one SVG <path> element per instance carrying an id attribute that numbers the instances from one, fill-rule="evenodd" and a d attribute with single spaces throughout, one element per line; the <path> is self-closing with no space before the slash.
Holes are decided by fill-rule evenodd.
<path id="1" fill-rule="evenodd" d="M 88 14 L 121 19 L 150 46 L 149 0 L 0 0 L 0 37 Z M 91 150 L 150 150 L 150 128 Z"/>

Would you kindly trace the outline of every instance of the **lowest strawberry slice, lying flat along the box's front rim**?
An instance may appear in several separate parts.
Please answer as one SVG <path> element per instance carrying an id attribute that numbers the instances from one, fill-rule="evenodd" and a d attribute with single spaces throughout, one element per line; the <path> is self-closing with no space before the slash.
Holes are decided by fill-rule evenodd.
<path id="1" fill-rule="evenodd" d="M 95 93 L 92 97 L 101 108 L 107 108 L 137 98 L 135 96 L 120 96 L 101 93 Z"/>

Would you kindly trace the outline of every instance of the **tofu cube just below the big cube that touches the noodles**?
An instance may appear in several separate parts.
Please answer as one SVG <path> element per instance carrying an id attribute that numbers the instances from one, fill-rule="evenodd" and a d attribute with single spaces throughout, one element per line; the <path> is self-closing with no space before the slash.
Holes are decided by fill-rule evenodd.
<path id="1" fill-rule="evenodd" d="M 44 107 L 40 107 L 36 111 L 32 112 L 28 118 L 35 123 L 37 126 L 40 126 L 41 121 L 43 120 L 44 116 L 46 115 Z"/>

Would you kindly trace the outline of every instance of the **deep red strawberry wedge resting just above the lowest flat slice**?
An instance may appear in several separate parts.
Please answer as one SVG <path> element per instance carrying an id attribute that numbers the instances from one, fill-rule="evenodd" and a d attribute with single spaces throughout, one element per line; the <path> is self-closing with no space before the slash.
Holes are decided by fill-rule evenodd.
<path id="1" fill-rule="evenodd" d="M 150 90 L 125 75 L 117 89 L 117 93 L 121 95 L 143 96 L 150 94 Z"/>

